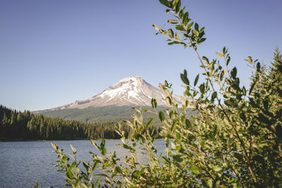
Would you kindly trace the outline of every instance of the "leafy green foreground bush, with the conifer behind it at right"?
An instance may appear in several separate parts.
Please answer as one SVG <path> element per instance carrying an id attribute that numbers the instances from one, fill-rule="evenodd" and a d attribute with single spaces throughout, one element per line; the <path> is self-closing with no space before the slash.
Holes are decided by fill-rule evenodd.
<path id="1" fill-rule="evenodd" d="M 231 56 L 228 49 L 217 52 L 218 60 L 200 57 L 197 46 L 204 42 L 204 27 L 193 23 L 180 0 L 160 0 L 168 20 L 175 27 L 160 29 L 158 34 L 168 38 L 168 44 L 189 47 L 199 58 L 204 82 L 193 82 L 186 70 L 180 75 L 185 84 L 183 105 L 174 103 L 171 84 L 159 87 L 167 94 L 170 105 L 166 111 L 136 109 L 130 127 L 130 139 L 118 128 L 121 147 L 128 156 L 121 163 L 116 153 L 106 153 L 105 141 L 98 146 L 101 155 L 92 154 L 90 163 L 82 162 L 85 171 L 78 168 L 56 144 L 59 170 L 66 172 L 66 182 L 71 187 L 282 187 L 282 58 L 276 49 L 274 62 L 268 69 L 247 57 L 254 70 L 250 89 L 240 85 L 236 68 L 228 68 Z M 195 106 L 198 115 L 188 118 L 188 105 Z M 157 102 L 152 99 L 152 107 Z M 144 113 L 154 113 L 163 126 L 161 135 L 166 142 L 164 155 L 157 155 L 155 137 L 149 132 L 154 120 L 143 121 Z M 145 149 L 147 164 L 137 161 Z M 96 169 L 99 168 L 97 175 Z"/>

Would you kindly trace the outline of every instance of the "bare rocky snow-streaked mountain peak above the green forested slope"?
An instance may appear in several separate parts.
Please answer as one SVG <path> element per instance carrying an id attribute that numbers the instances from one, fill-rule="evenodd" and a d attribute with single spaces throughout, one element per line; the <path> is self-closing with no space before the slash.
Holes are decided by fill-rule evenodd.
<path id="1" fill-rule="evenodd" d="M 176 103 L 182 104 L 180 96 L 173 95 Z M 166 106 L 166 94 L 157 87 L 147 83 L 141 77 L 132 76 L 119 80 L 113 87 L 105 89 L 103 92 L 85 99 L 75 101 L 57 108 L 44 110 L 56 111 L 68 108 L 89 108 L 97 106 L 151 106 L 151 99 L 157 100 L 158 106 Z M 42 113 L 37 111 L 35 113 Z"/>

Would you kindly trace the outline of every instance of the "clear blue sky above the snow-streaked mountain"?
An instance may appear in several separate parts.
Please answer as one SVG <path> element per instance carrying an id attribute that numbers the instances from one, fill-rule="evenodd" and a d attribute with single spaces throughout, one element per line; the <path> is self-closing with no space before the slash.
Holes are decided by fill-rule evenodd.
<path id="1" fill-rule="evenodd" d="M 269 65 L 282 49 L 282 1 L 182 1 L 206 27 L 201 56 L 227 46 L 243 84 L 252 56 Z M 152 23 L 166 23 L 157 0 L 1 0 L 0 104 L 23 111 L 86 99 L 123 77 L 139 75 L 157 86 L 168 80 L 183 92 L 180 73 L 200 73 L 190 49 L 168 46 Z"/>

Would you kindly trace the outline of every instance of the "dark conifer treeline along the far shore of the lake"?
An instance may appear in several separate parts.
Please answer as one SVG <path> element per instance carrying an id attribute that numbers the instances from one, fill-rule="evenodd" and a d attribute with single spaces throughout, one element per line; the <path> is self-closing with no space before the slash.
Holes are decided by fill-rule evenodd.
<path id="1" fill-rule="evenodd" d="M 30 111 L 16 111 L 0 106 L 0 140 L 13 139 L 119 139 L 117 122 L 85 123 L 78 120 L 50 118 Z M 123 125 L 125 135 L 130 127 Z M 159 137 L 161 125 L 154 124 L 149 131 Z"/>

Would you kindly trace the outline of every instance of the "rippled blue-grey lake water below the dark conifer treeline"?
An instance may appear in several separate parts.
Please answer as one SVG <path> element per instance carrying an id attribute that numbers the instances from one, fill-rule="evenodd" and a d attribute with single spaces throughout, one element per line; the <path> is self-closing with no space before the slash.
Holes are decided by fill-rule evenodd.
<path id="1" fill-rule="evenodd" d="M 43 187 L 63 187 L 64 173 L 57 172 L 51 165 L 57 161 L 56 153 L 52 153 L 51 142 L 56 143 L 59 149 L 65 148 L 65 153 L 72 153 L 72 144 L 78 151 L 78 159 L 83 161 L 91 160 L 88 151 L 99 153 L 89 140 L 0 142 L 0 187 L 32 187 L 36 181 Z M 128 153 L 116 146 L 120 143 L 119 140 L 106 140 L 107 152 L 116 151 L 118 157 L 124 158 Z M 155 145 L 158 151 L 164 153 L 163 139 L 156 140 Z M 140 159 L 144 162 L 147 160 Z"/>

